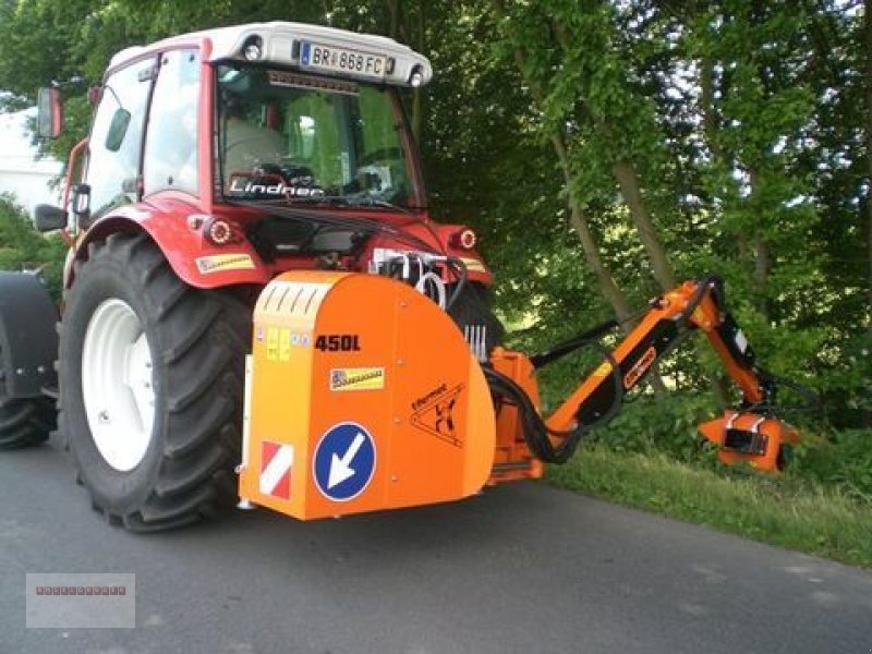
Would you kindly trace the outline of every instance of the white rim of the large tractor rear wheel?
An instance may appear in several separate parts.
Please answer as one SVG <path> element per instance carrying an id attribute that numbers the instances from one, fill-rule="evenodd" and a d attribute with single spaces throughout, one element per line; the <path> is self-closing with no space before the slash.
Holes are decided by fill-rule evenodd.
<path id="1" fill-rule="evenodd" d="M 82 395 L 90 435 L 106 462 L 128 472 L 145 457 L 155 424 L 152 349 L 126 302 L 105 300 L 85 332 Z"/>

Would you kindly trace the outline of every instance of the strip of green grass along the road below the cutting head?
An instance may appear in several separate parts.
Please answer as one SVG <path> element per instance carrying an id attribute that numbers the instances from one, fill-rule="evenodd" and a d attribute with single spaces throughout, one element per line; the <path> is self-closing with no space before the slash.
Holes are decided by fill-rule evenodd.
<path id="1" fill-rule="evenodd" d="M 547 479 L 560 486 L 755 541 L 872 568 L 872 506 L 836 487 L 720 474 L 661 453 L 582 448 Z"/>

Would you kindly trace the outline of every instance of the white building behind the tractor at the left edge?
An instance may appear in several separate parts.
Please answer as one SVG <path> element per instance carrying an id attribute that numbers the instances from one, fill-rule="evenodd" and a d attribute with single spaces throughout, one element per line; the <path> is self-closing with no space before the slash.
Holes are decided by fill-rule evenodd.
<path id="1" fill-rule="evenodd" d="M 37 159 L 27 129 L 27 119 L 35 116 L 35 108 L 0 113 L 0 193 L 12 193 L 28 211 L 38 204 L 60 204 L 60 184 L 50 184 L 62 166 L 55 159 Z"/>

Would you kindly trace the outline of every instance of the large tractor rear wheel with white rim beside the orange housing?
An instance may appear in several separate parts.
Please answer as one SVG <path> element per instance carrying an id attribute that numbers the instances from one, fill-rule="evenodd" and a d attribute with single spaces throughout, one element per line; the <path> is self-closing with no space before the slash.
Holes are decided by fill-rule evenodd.
<path id="1" fill-rule="evenodd" d="M 60 334 L 59 426 L 95 509 L 171 529 L 235 497 L 249 307 L 184 284 L 144 234 L 93 243 Z"/>

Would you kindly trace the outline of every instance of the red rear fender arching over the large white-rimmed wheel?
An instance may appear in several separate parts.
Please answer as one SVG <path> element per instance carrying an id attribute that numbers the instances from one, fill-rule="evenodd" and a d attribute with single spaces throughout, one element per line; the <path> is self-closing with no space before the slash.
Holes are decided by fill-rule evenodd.
<path id="1" fill-rule="evenodd" d="M 232 242 L 216 246 L 203 235 L 203 226 L 213 216 L 189 203 L 160 198 L 149 204 L 121 207 L 95 222 L 76 247 L 76 259 L 88 257 L 88 244 L 104 241 L 122 231 L 144 231 L 157 244 L 173 272 L 189 286 L 199 289 L 230 284 L 266 284 L 272 277 L 241 230 Z M 232 219 L 228 219 L 232 225 Z M 73 283 L 69 276 L 66 286 Z"/>

